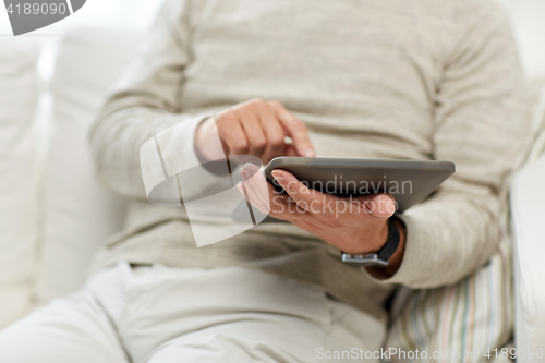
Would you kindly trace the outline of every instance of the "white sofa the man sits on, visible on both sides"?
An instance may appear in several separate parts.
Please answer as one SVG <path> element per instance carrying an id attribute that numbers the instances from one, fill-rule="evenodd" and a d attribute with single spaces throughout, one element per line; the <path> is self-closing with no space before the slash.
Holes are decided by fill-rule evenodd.
<path id="1" fill-rule="evenodd" d="M 77 289 L 95 251 L 122 227 L 125 201 L 95 181 L 87 130 L 141 37 L 70 32 L 41 52 L 40 64 L 55 61 L 51 80 L 36 72 L 39 39 L 10 51 L 0 39 L 0 328 Z M 517 346 L 526 349 L 545 341 L 542 178 L 545 159 L 518 176 L 512 196 Z"/>

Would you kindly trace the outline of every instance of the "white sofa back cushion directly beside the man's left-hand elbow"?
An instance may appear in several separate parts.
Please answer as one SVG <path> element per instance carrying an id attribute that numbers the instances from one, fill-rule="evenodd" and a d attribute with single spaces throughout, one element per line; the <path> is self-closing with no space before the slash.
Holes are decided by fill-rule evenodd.
<path id="1" fill-rule="evenodd" d="M 56 112 L 45 174 L 41 302 L 74 291 L 105 239 L 121 229 L 124 201 L 96 181 L 88 129 L 129 63 L 138 33 L 96 28 L 61 40 L 52 90 Z"/>

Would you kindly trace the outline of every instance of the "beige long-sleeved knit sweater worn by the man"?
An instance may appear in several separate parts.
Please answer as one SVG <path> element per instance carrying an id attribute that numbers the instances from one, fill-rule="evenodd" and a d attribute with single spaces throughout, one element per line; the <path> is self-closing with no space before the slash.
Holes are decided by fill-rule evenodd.
<path id="1" fill-rule="evenodd" d="M 372 279 L 292 225 L 197 249 L 183 208 L 146 201 L 138 149 L 147 138 L 187 122 L 180 158 L 193 159 L 195 118 L 254 97 L 304 121 L 318 156 L 456 162 L 437 193 L 401 216 L 407 250 L 392 278 Z M 99 178 L 133 201 L 99 263 L 255 267 L 380 315 L 396 283 L 453 283 L 496 253 L 525 110 L 494 0 L 167 1 L 92 132 Z"/>

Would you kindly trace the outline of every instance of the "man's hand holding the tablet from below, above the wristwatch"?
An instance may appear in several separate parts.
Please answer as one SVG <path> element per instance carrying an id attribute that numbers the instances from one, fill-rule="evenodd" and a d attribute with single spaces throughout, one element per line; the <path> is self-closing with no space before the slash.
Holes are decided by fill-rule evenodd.
<path id="1" fill-rule="evenodd" d="M 272 176 L 286 195 L 266 182 L 255 166 L 246 164 L 241 176 L 244 182 L 239 184 L 239 190 L 262 213 L 290 221 L 346 253 L 375 253 L 388 238 L 387 221 L 396 211 L 396 202 L 387 194 L 337 197 L 308 189 L 292 173 L 277 169 Z M 399 247 L 387 268 L 368 269 L 377 277 L 393 275 L 401 264 L 404 229 L 401 222 L 396 223 L 400 229 Z"/>

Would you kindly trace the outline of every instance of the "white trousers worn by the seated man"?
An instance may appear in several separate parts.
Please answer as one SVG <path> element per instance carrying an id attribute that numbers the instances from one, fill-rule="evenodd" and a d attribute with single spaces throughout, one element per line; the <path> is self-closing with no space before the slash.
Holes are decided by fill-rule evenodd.
<path id="1" fill-rule="evenodd" d="M 120 263 L 2 330 L 0 362 L 340 362 L 355 351 L 378 362 L 362 352 L 385 334 L 385 322 L 279 276 Z"/>

